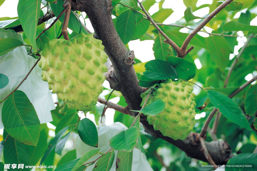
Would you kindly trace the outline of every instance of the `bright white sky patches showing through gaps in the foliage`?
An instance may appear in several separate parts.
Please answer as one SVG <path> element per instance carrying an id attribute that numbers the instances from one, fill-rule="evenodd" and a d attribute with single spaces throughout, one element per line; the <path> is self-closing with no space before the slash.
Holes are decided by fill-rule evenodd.
<path id="1" fill-rule="evenodd" d="M 160 0 L 156 0 L 157 2 L 159 2 Z M 200 6 L 202 4 L 212 4 L 212 0 L 198 0 L 196 6 Z M 5 0 L 5 2 L 0 6 L 0 17 L 16 17 L 18 16 L 17 14 L 17 4 L 18 4 L 18 0 Z M 163 3 L 163 8 L 171 8 L 174 12 L 171 14 L 170 17 L 168 17 L 164 22 L 163 24 L 170 24 L 170 23 L 174 23 L 176 22 L 178 19 L 180 19 L 181 17 L 184 16 L 184 11 L 186 10 L 186 6 L 183 4 L 183 1 L 182 0 L 166 0 L 164 3 Z M 157 12 L 159 9 L 158 7 L 158 3 L 155 3 L 149 10 L 149 13 L 152 15 L 154 14 L 155 12 Z M 199 16 L 199 17 L 202 17 L 206 14 L 209 13 L 209 7 L 205 7 L 205 8 L 202 8 L 202 9 L 199 9 L 197 11 L 195 11 L 193 14 L 195 16 Z M 84 14 L 85 16 L 85 14 Z M 235 17 L 239 17 L 240 16 L 240 12 L 238 12 L 236 14 Z M 251 22 L 251 25 L 257 25 L 257 18 L 255 18 L 252 22 Z M 87 28 L 91 31 L 91 32 L 94 32 L 94 29 L 93 27 L 91 26 L 91 23 L 89 21 L 89 19 L 86 19 L 86 26 Z M 211 32 L 212 29 L 211 28 L 208 28 L 208 27 L 205 27 L 205 29 L 208 31 L 208 32 Z M 182 28 L 180 30 L 181 32 L 183 33 L 187 33 L 188 32 L 188 29 L 187 28 Z M 199 33 L 201 36 L 203 37 L 208 37 L 209 35 L 206 34 L 206 33 Z M 238 34 L 242 35 L 243 33 L 241 32 L 238 32 Z M 235 49 L 234 49 L 234 54 L 231 54 L 230 55 L 230 59 L 232 59 L 235 55 L 238 54 L 238 50 L 243 46 L 244 42 L 246 42 L 246 37 L 238 37 L 237 38 L 237 41 L 238 41 L 238 45 L 235 46 Z M 134 53 L 135 53 L 135 56 L 140 59 L 142 62 L 146 62 L 146 61 L 150 61 L 152 59 L 154 59 L 154 55 L 153 55 L 153 51 L 152 51 L 152 47 L 153 47 L 153 43 L 154 41 L 152 40 L 146 40 L 146 41 L 139 41 L 139 40 L 134 40 L 134 41 L 130 41 L 128 43 L 129 45 L 129 48 L 130 50 L 133 50 Z M 199 61 L 199 59 L 196 59 L 195 60 L 195 64 L 197 66 L 198 69 L 201 68 L 201 63 Z M 257 73 L 256 73 L 257 74 Z M 253 77 L 253 75 L 247 75 L 245 77 L 245 79 L 247 81 L 249 81 L 251 78 Z M 104 83 L 104 86 L 106 88 L 109 88 L 109 84 L 107 81 L 105 81 Z M 101 95 L 104 96 L 106 94 L 109 94 L 109 91 L 107 92 L 108 90 L 106 90 L 106 92 L 103 92 Z M 197 88 L 195 89 L 195 94 L 197 94 Z M 100 96 L 101 96 L 100 95 Z M 57 99 L 57 96 L 56 95 L 53 95 L 53 99 Z M 113 98 L 110 100 L 111 102 L 113 103 L 117 103 L 119 101 L 119 97 L 116 97 L 116 98 Z M 109 114 L 109 116 L 106 118 L 108 124 L 111 124 L 113 123 L 113 115 L 114 115 L 114 109 L 107 109 L 106 111 L 107 114 Z M 200 117 L 204 117 L 205 116 L 205 113 L 201 113 L 201 114 L 198 114 L 196 117 L 200 118 Z M 93 117 L 92 115 L 88 116 L 87 117 L 92 117 L 92 120 L 93 120 Z"/>

